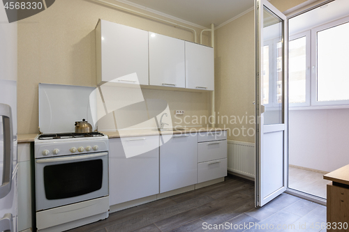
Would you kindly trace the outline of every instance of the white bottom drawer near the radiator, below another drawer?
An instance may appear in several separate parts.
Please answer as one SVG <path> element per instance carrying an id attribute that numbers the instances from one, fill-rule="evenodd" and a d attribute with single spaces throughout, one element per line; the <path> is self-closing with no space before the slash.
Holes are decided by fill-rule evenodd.
<path id="1" fill-rule="evenodd" d="M 198 164 L 198 183 L 227 176 L 227 159 Z"/>

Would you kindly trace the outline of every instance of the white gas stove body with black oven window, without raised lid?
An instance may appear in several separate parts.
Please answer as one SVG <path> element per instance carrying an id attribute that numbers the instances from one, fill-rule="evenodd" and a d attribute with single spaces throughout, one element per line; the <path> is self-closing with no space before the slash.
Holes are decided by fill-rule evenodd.
<path id="1" fill-rule="evenodd" d="M 106 135 L 40 134 L 34 149 L 38 231 L 65 231 L 107 218 Z"/>

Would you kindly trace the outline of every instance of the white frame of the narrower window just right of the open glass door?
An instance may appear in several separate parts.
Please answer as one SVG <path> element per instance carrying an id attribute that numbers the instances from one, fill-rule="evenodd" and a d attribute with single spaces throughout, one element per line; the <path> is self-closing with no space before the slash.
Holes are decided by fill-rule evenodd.
<path id="1" fill-rule="evenodd" d="M 297 103 L 288 102 L 289 107 L 309 107 L 311 105 L 311 30 L 292 35 L 288 41 L 290 42 L 302 37 L 306 38 L 306 101 Z M 288 50 L 288 52 L 290 52 L 290 50 Z M 290 62 L 290 57 L 288 61 Z M 288 82 L 290 82 L 290 70 L 288 70 Z M 288 94 L 290 94 L 290 92 Z"/>

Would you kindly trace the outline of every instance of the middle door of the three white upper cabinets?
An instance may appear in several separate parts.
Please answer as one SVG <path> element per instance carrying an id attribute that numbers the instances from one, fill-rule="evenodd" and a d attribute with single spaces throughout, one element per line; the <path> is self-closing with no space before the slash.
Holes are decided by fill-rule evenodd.
<path id="1" fill-rule="evenodd" d="M 149 84 L 186 87 L 184 40 L 149 32 Z"/>

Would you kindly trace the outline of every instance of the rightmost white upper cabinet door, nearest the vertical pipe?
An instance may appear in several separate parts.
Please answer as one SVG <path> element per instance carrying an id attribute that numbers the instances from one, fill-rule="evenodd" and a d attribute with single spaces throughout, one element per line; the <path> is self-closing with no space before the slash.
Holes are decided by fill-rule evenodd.
<path id="1" fill-rule="evenodd" d="M 186 88 L 214 91 L 214 49 L 186 42 Z"/>

